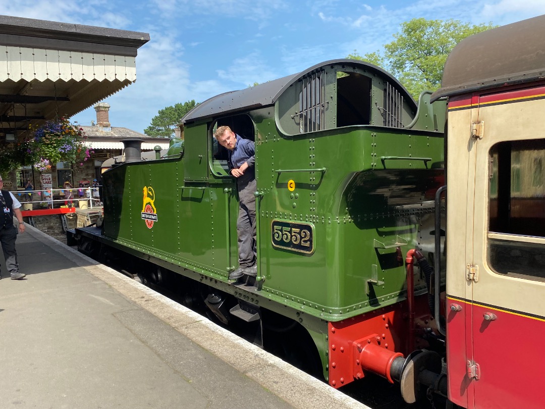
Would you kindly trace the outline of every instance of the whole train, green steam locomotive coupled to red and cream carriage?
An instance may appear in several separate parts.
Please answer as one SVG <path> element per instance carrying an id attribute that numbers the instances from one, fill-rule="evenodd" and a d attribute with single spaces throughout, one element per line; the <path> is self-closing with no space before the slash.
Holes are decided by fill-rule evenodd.
<path id="1" fill-rule="evenodd" d="M 544 27 L 462 41 L 418 104 L 349 59 L 210 98 L 162 157 L 127 142 L 103 176 L 104 222 L 77 229 L 78 246 L 332 387 L 379 374 L 409 403 L 425 388 L 467 408 L 542 407 Z M 258 272 L 238 284 L 222 125 L 256 146 Z"/>

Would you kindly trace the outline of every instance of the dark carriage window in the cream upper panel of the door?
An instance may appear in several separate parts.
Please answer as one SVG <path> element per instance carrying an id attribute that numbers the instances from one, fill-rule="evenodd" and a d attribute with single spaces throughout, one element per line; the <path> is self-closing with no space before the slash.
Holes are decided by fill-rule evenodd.
<path id="1" fill-rule="evenodd" d="M 545 279 L 545 140 L 497 143 L 489 160 L 490 266 Z"/>

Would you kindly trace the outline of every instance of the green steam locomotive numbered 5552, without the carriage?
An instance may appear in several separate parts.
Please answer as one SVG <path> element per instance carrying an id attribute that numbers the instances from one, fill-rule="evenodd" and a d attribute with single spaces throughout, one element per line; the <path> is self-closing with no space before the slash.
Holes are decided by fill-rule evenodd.
<path id="1" fill-rule="evenodd" d="M 210 98 L 166 155 L 142 161 L 126 146 L 102 178 L 101 228 L 77 230 L 80 250 L 203 303 L 331 386 L 371 372 L 393 381 L 397 358 L 434 345 L 429 274 L 404 263 L 409 249 L 440 257 L 446 102 L 429 97 L 416 104 L 384 70 L 338 59 Z M 222 125 L 256 149 L 258 272 L 238 284 Z"/>

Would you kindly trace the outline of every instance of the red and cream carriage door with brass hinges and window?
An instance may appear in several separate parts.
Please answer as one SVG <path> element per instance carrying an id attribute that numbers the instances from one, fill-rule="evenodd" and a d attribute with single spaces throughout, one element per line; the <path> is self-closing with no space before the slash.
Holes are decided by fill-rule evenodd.
<path id="1" fill-rule="evenodd" d="M 545 87 L 480 98 L 467 261 L 475 408 L 545 405 L 544 94 Z"/>

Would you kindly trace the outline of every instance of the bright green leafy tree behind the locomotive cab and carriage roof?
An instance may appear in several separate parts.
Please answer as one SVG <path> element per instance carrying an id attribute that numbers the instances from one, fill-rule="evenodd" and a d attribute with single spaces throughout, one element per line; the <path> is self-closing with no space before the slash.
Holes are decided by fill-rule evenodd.
<path id="1" fill-rule="evenodd" d="M 380 51 L 361 57 L 356 50 L 347 58 L 361 59 L 390 71 L 416 99 L 425 89 L 441 86 L 443 67 L 454 46 L 470 35 L 494 28 L 491 23 L 477 26 L 459 20 L 413 19 L 401 24 L 391 43 Z"/>

